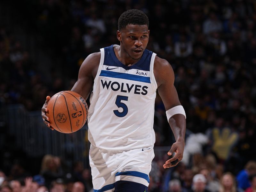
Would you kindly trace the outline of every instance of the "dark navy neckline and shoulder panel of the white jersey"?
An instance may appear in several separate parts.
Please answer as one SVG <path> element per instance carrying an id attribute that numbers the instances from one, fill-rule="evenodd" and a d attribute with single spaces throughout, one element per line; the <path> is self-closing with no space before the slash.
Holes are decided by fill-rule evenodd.
<path id="1" fill-rule="evenodd" d="M 150 60 L 153 52 L 145 49 L 140 60 L 132 66 L 125 66 L 121 61 L 116 57 L 113 45 L 109 47 L 104 47 L 105 57 L 103 65 L 122 67 L 125 70 L 129 69 L 139 69 L 143 71 L 150 71 Z"/>

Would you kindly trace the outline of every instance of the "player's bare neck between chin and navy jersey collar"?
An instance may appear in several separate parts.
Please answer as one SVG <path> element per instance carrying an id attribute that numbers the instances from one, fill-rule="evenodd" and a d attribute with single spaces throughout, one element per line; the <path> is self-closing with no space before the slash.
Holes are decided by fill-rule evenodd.
<path id="1" fill-rule="evenodd" d="M 123 48 L 121 45 L 114 46 L 114 52 L 116 54 L 117 59 L 123 63 L 125 66 L 132 66 L 137 63 L 139 59 L 133 59 Z"/>

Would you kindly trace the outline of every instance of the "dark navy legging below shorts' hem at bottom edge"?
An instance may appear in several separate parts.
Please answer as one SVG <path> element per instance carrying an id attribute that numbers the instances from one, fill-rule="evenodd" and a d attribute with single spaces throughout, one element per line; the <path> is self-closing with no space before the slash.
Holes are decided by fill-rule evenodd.
<path id="1" fill-rule="evenodd" d="M 147 192 L 148 187 L 132 181 L 116 181 L 114 192 Z"/>

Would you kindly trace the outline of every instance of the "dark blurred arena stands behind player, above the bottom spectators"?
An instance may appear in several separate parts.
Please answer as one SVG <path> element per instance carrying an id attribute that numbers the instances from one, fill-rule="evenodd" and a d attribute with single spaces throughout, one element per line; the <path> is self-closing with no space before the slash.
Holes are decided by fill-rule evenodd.
<path id="1" fill-rule="evenodd" d="M 60 161 L 53 171 L 56 177 L 44 178 L 47 187 L 61 178 L 65 184 L 80 180 L 85 191 L 91 190 L 87 125 L 72 134 L 51 131 L 43 124 L 41 108 L 47 95 L 72 88 L 86 56 L 118 44 L 117 19 L 131 8 L 148 15 L 147 48 L 171 63 L 187 114 L 184 159 L 164 170 L 174 137 L 157 96 L 156 157 L 149 191 L 168 191 L 173 178 L 185 185 L 184 174 L 189 171 L 192 184 L 193 175 L 203 169 L 210 173 L 208 181 L 221 186 L 223 173 L 237 176 L 248 161 L 256 160 L 255 1 L 2 0 L 0 177 L 5 175 L 4 184 L 20 180 L 25 185 L 26 177 L 40 174 L 42 179 L 43 157 L 51 154 L 55 163 Z"/>

